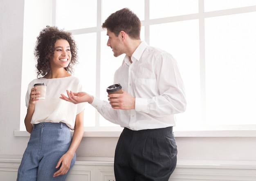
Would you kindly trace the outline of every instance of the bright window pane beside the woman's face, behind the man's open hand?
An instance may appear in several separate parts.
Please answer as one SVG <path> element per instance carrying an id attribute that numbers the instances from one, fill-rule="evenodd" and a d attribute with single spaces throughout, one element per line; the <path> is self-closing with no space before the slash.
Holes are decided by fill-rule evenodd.
<path id="1" fill-rule="evenodd" d="M 74 68 L 74 75 L 83 83 L 83 90 L 96 93 L 96 33 L 74 35 L 78 46 L 79 64 Z M 95 126 L 95 108 L 86 104 L 84 126 Z"/>

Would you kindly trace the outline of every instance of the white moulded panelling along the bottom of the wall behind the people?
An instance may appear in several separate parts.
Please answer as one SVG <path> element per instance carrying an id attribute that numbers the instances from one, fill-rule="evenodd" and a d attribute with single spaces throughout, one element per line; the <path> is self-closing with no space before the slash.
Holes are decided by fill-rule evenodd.
<path id="1" fill-rule="evenodd" d="M 0 155 L 1 180 L 16 180 L 21 156 Z M 77 158 L 66 181 L 115 181 L 113 158 Z M 178 160 L 170 181 L 256 181 L 256 161 Z"/>

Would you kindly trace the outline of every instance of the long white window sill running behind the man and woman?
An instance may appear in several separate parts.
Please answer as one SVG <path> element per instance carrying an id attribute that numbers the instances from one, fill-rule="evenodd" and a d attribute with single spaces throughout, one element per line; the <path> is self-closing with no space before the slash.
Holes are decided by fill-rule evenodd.
<path id="1" fill-rule="evenodd" d="M 71 131 L 73 133 L 73 131 Z M 84 131 L 83 137 L 119 137 L 121 131 Z M 256 130 L 175 131 L 175 137 L 256 137 Z M 15 137 L 29 137 L 27 131 L 13 132 Z"/>

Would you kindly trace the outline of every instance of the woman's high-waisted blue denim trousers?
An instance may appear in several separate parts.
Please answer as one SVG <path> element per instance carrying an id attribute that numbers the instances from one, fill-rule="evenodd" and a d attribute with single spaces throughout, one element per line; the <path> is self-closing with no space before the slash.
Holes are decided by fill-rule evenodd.
<path id="1" fill-rule="evenodd" d="M 67 152 L 72 140 L 69 127 L 64 123 L 34 125 L 27 148 L 18 169 L 17 181 L 64 181 L 67 174 L 53 177 L 59 159 Z M 70 168 L 74 165 L 74 155 Z"/>

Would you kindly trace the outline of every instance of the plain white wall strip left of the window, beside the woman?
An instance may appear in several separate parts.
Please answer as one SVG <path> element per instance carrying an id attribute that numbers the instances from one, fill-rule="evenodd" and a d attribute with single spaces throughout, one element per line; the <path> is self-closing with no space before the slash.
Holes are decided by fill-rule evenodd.
<path id="1" fill-rule="evenodd" d="M 0 1 L 0 155 L 20 154 L 21 140 L 27 141 L 13 137 L 20 120 L 23 13 L 24 0 Z"/>

